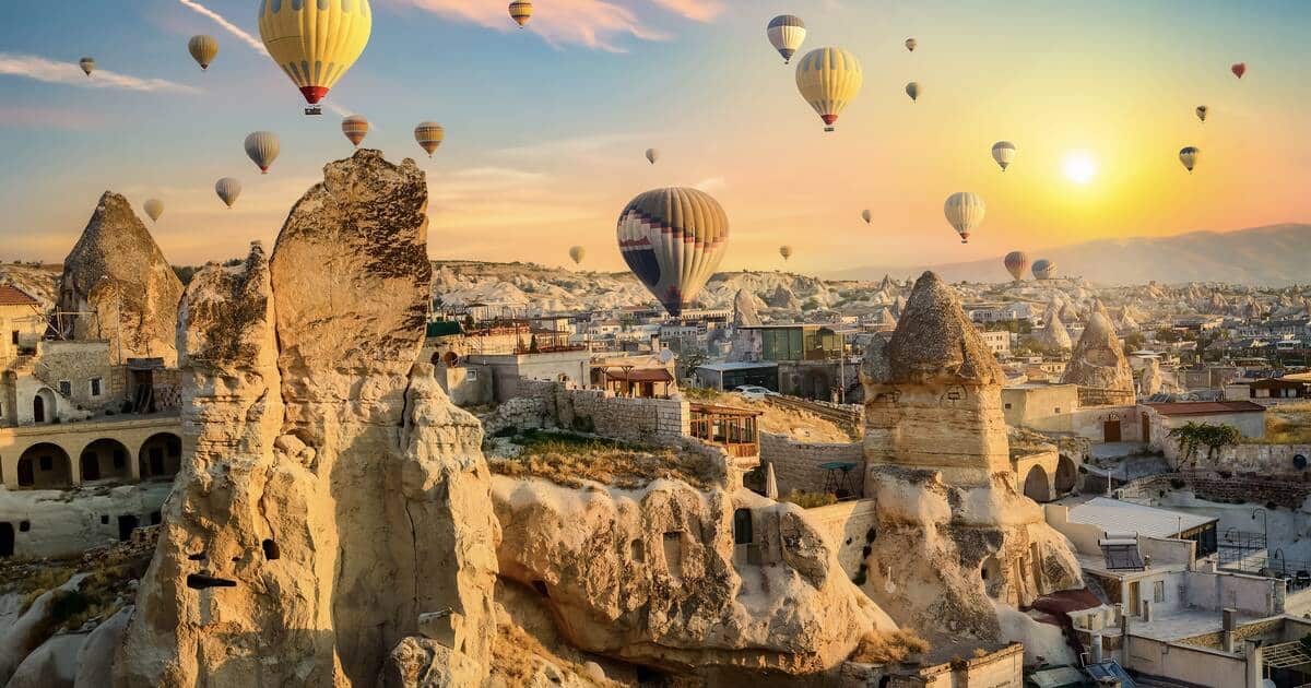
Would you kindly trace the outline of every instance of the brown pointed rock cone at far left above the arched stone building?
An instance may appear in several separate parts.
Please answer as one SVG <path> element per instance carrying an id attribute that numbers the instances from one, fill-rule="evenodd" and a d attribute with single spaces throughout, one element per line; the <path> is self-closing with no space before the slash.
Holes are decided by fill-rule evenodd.
<path id="1" fill-rule="evenodd" d="M 64 258 L 58 309 L 80 313 L 67 324 L 66 334 L 109 339 L 115 362 L 163 358 L 173 367 L 181 297 L 182 283 L 131 204 L 105 191 Z"/>

